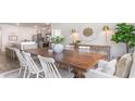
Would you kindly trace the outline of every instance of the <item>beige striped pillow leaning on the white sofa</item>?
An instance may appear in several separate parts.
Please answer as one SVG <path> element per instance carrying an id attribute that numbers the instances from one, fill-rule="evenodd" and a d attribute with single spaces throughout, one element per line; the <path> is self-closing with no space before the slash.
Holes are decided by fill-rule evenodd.
<path id="1" fill-rule="evenodd" d="M 116 63 L 116 70 L 114 75 L 122 78 L 127 78 L 132 66 L 131 53 L 124 54 Z"/>

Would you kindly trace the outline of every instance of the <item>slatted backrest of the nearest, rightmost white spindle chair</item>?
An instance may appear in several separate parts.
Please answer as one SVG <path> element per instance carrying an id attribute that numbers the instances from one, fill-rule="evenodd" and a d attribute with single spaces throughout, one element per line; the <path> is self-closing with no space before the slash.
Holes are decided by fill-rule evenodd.
<path id="1" fill-rule="evenodd" d="M 38 59 L 45 70 L 45 76 L 47 78 L 61 78 L 61 75 L 56 66 L 56 62 L 52 58 L 44 58 L 38 55 Z"/>

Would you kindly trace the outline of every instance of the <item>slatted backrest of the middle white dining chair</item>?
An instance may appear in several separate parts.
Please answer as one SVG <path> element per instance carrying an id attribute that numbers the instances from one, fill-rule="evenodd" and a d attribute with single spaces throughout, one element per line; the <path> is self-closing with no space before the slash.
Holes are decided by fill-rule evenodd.
<path id="1" fill-rule="evenodd" d="M 34 60 L 32 59 L 30 53 L 27 53 L 27 52 L 24 52 L 24 51 L 22 53 L 23 53 L 23 55 L 24 55 L 24 58 L 26 60 L 28 71 L 37 73 L 39 71 L 39 68 L 36 65 L 36 63 L 34 62 Z"/>

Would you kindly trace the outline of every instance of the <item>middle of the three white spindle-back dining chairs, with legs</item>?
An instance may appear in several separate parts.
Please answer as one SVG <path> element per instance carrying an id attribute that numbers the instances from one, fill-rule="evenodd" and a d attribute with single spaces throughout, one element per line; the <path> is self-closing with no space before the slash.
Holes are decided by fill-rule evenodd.
<path id="1" fill-rule="evenodd" d="M 42 67 L 40 66 L 40 64 L 36 63 L 32 56 L 30 56 L 30 53 L 27 53 L 27 52 L 22 52 L 25 60 L 26 60 L 26 64 L 27 64 L 27 67 L 28 67 L 28 75 L 27 75 L 27 78 L 30 78 L 32 75 L 36 75 L 36 78 L 39 78 L 39 77 L 44 77 L 44 70 Z"/>

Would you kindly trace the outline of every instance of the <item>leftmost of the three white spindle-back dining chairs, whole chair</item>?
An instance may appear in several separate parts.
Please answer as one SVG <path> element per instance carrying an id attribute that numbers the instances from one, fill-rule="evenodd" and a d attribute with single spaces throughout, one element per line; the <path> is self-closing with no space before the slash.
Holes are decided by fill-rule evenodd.
<path id="1" fill-rule="evenodd" d="M 27 71 L 27 64 L 26 64 L 26 61 L 24 59 L 24 56 L 22 55 L 21 51 L 19 49 L 14 49 L 15 53 L 16 53 L 16 56 L 20 61 L 20 71 L 19 71 L 19 77 L 21 76 L 21 73 L 23 73 L 23 78 L 25 78 L 26 76 L 26 71 Z"/>

